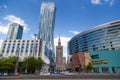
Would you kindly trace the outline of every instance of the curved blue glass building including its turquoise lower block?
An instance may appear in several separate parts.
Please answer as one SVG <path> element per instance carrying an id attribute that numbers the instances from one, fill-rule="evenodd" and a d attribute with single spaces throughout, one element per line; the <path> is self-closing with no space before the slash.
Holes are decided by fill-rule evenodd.
<path id="1" fill-rule="evenodd" d="M 90 53 L 94 72 L 120 73 L 120 20 L 74 36 L 68 43 L 68 52 L 70 55 Z"/>

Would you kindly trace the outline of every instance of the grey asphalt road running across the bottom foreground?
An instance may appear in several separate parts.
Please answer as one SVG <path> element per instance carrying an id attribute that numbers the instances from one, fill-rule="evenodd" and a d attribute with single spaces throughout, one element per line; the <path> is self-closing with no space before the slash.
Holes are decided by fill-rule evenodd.
<path id="1" fill-rule="evenodd" d="M 0 80 L 120 80 L 120 75 L 47 75 L 0 76 Z"/>

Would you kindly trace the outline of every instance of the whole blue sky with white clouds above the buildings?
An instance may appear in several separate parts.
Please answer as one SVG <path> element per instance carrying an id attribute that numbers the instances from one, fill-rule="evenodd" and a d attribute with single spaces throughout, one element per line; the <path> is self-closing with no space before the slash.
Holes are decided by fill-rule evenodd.
<path id="1" fill-rule="evenodd" d="M 0 44 L 12 22 L 25 26 L 23 39 L 33 39 L 33 34 L 38 33 L 42 2 L 56 4 L 54 40 L 56 44 L 61 35 L 64 56 L 67 41 L 74 35 L 106 22 L 120 20 L 120 0 L 0 0 Z"/>

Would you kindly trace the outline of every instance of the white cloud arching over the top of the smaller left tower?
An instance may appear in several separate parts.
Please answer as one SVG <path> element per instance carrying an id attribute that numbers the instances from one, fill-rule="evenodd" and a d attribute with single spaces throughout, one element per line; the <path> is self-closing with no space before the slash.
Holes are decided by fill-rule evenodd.
<path id="1" fill-rule="evenodd" d="M 10 23 L 18 23 L 18 24 L 23 25 L 25 33 L 30 30 L 28 28 L 28 25 L 20 17 L 16 17 L 14 15 L 7 15 L 7 16 L 4 17 L 4 19 L 7 20 L 7 21 L 9 21 Z"/>

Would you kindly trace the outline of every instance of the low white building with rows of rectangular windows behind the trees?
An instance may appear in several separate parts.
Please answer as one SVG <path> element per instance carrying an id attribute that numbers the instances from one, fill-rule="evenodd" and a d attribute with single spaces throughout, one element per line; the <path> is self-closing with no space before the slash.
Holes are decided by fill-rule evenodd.
<path id="1" fill-rule="evenodd" d="M 3 57 L 19 56 L 22 61 L 25 57 L 41 58 L 46 64 L 50 61 L 44 54 L 45 41 L 40 40 L 4 40 L 0 53 Z M 18 55 L 19 53 L 19 55 Z"/>

